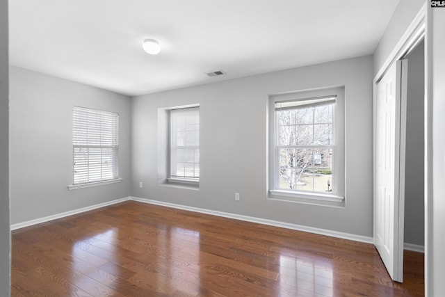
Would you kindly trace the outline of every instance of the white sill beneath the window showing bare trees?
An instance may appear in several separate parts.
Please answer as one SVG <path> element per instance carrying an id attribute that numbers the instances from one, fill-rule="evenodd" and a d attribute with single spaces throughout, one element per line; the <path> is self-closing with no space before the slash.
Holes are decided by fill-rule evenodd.
<path id="1" fill-rule="evenodd" d="M 344 207 L 345 202 L 344 197 L 337 195 L 329 195 L 323 193 L 312 194 L 285 190 L 269 190 L 268 199 L 334 207 Z"/>

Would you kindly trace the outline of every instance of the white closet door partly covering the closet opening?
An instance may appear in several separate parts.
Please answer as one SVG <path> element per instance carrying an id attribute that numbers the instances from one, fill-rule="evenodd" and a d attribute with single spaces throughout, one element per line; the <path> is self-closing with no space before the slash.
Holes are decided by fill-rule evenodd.
<path id="1" fill-rule="evenodd" d="M 406 61 L 397 61 L 376 86 L 374 244 L 393 280 L 403 281 Z M 405 79 L 405 81 L 404 81 Z M 406 102 L 406 98 L 405 98 Z"/>

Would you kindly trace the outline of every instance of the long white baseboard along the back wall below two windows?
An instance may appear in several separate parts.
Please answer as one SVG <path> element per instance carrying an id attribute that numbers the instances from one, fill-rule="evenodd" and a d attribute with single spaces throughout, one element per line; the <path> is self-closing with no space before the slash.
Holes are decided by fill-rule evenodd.
<path id="1" fill-rule="evenodd" d="M 282 228 L 291 229 L 291 230 L 332 236 L 332 237 L 348 239 L 348 240 L 352 240 L 352 241 L 373 243 L 373 238 L 369 237 L 369 236 L 362 236 L 362 235 L 349 234 L 349 233 L 337 232 L 337 231 L 332 231 L 332 230 L 325 230 L 325 229 L 320 229 L 320 228 L 316 228 L 316 227 L 307 227 L 307 226 L 296 225 L 296 224 L 292 224 L 292 223 L 284 223 L 284 222 L 280 222 L 277 220 L 268 220 L 266 218 L 255 218 L 253 216 L 243 216 L 241 214 L 230 214 L 230 213 L 223 212 L 223 211 L 214 211 L 214 210 L 202 209 L 202 208 L 198 208 L 198 207 L 188 207 L 188 206 L 181 205 L 181 204 L 174 204 L 174 203 L 162 202 L 162 201 L 157 201 L 157 200 L 149 200 L 149 199 L 136 198 L 136 197 L 131 197 L 130 200 L 148 203 L 148 204 L 161 205 L 164 207 L 172 207 L 172 208 L 176 208 L 176 209 L 195 211 L 195 212 L 199 212 L 202 214 L 211 214 L 213 216 L 222 216 L 224 218 L 233 218 L 235 220 L 245 220 L 247 222 L 259 223 L 259 224 L 270 225 L 270 226 L 275 226 L 275 227 L 282 227 Z"/>

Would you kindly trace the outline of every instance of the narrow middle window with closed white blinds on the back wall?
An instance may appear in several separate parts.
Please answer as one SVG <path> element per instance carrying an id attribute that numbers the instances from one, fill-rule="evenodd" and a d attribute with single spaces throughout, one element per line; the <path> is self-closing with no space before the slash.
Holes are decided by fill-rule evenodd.
<path id="1" fill-rule="evenodd" d="M 200 180 L 200 109 L 170 110 L 169 182 L 197 184 Z"/>

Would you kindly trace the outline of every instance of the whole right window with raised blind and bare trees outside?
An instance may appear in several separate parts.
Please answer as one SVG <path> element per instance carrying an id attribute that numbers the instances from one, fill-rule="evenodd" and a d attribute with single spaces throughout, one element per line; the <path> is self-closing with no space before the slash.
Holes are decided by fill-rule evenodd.
<path id="1" fill-rule="evenodd" d="M 343 200 L 342 91 L 336 88 L 272 97 L 272 195 Z"/>

